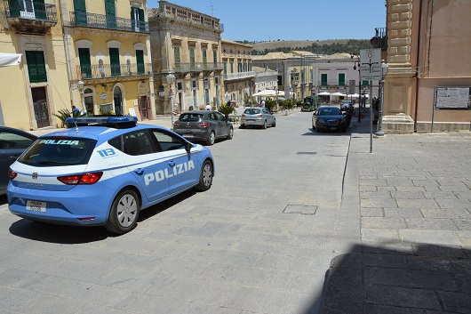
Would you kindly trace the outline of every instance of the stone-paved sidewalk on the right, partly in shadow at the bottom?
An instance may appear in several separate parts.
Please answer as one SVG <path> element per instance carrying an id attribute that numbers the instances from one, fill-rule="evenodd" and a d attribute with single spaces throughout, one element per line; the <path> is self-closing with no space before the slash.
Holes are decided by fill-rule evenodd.
<path id="1" fill-rule="evenodd" d="M 331 261 L 323 314 L 471 313 L 471 133 L 387 134 L 370 154 L 368 113 L 352 120 L 349 246 Z"/>

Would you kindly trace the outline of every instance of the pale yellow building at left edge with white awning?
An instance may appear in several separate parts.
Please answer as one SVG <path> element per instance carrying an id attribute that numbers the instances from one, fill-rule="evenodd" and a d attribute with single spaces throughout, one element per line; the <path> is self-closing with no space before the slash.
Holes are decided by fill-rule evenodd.
<path id="1" fill-rule="evenodd" d="M 19 64 L 0 67 L 0 125 L 55 127 L 58 119 L 52 113 L 70 109 L 59 8 L 44 0 L 0 5 L 0 52 L 20 54 Z"/>

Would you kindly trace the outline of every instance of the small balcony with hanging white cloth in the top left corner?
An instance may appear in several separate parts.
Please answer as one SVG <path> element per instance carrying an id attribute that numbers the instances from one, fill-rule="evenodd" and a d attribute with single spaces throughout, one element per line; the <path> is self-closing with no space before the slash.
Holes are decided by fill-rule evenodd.
<path id="1" fill-rule="evenodd" d="M 57 24 L 55 4 L 42 4 L 33 0 L 4 0 L 6 19 L 18 33 L 46 34 Z"/>

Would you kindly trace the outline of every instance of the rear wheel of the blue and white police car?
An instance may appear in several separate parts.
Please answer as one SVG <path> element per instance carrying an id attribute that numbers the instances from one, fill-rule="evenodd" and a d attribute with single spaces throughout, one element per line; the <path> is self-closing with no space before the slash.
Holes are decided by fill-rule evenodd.
<path id="1" fill-rule="evenodd" d="M 139 197 L 132 189 L 124 189 L 113 201 L 105 228 L 109 232 L 124 234 L 134 229 L 140 213 Z"/>

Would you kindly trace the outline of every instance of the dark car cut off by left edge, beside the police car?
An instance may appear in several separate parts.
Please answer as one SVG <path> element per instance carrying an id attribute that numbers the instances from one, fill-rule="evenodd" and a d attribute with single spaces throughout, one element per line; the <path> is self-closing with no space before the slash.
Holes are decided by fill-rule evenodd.
<path id="1" fill-rule="evenodd" d="M 0 126 L 0 195 L 6 194 L 8 169 L 37 136 L 12 127 Z"/>

